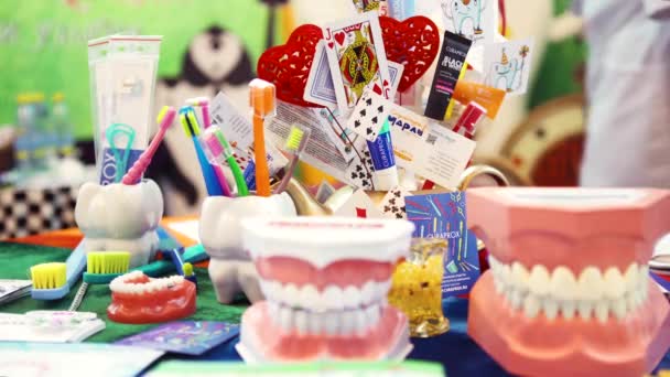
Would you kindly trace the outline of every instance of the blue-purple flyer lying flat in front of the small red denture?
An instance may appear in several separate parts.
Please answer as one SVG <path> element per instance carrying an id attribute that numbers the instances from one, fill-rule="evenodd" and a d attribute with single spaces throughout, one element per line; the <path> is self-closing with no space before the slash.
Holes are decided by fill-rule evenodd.
<path id="1" fill-rule="evenodd" d="M 142 348 L 202 355 L 239 334 L 239 325 L 226 322 L 184 321 L 166 323 L 116 342 Z"/>

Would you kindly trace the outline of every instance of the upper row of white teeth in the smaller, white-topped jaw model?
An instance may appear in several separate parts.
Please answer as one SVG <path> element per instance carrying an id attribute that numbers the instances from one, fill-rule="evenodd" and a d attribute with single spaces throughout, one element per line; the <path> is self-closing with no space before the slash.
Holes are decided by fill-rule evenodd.
<path id="1" fill-rule="evenodd" d="M 281 283 L 261 279 L 260 287 L 269 301 L 292 308 L 309 308 L 313 311 L 355 309 L 369 305 L 386 299 L 391 281 L 369 280 L 361 287 L 335 284 L 326 286 L 318 291 L 313 284 L 298 287 L 293 283 Z"/>

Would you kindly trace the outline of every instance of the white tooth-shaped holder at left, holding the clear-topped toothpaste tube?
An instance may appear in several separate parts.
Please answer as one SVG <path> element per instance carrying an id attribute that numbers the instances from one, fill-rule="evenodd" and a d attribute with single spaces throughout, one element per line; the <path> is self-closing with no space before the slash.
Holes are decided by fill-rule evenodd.
<path id="1" fill-rule="evenodd" d="M 75 207 L 86 252 L 129 251 L 130 268 L 153 259 L 162 217 L 163 195 L 151 180 L 134 185 L 86 183 L 79 188 Z"/>

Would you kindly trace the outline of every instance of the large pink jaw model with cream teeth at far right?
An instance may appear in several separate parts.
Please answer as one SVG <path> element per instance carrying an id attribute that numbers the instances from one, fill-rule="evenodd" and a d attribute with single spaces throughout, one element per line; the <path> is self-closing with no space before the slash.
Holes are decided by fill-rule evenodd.
<path id="1" fill-rule="evenodd" d="M 468 333 L 509 373 L 641 376 L 670 346 L 670 306 L 649 278 L 670 229 L 655 190 L 474 188 L 468 226 L 491 269 Z"/>

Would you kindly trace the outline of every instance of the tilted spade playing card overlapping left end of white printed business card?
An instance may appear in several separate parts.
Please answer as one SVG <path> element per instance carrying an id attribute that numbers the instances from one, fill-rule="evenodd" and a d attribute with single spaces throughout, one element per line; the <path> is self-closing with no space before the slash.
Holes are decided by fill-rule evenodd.
<path id="1" fill-rule="evenodd" d="M 381 127 L 389 118 L 392 103 L 367 89 L 352 111 L 347 128 L 368 141 L 375 141 Z"/>

